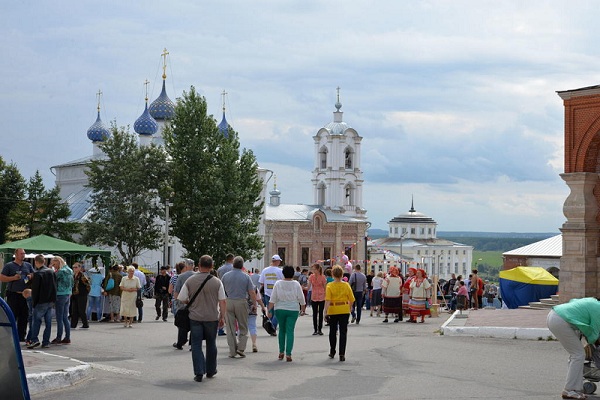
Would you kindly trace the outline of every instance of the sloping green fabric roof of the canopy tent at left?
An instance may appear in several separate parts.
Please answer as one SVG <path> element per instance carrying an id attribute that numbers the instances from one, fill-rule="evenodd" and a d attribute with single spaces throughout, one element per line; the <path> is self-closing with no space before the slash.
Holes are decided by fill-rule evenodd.
<path id="1" fill-rule="evenodd" d="M 100 255 L 110 257 L 110 250 L 101 250 L 81 244 L 56 239 L 52 236 L 38 235 L 32 238 L 17 240 L 0 245 L 0 253 L 14 253 L 16 249 L 23 248 L 29 253 L 54 253 L 54 254 L 79 254 Z"/>

